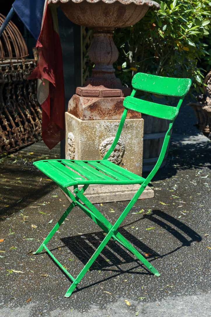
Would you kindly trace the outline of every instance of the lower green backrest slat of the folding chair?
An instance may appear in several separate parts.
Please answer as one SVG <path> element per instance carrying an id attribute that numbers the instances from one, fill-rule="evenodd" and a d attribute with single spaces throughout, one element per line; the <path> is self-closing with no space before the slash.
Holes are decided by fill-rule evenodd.
<path id="1" fill-rule="evenodd" d="M 125 97 L 123 106 L 127 109 L 167 120 L 174 120 L 179 112 L 177 107 L 166 106 L 130 96 Z"/>

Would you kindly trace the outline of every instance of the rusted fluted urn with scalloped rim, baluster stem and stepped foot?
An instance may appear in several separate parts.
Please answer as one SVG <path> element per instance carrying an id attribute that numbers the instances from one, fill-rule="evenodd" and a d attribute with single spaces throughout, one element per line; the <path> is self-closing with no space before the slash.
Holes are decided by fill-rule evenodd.
<path id="1" fill-rule="evenodd" d="M 118 58 L 118 50 L 113 30 L 137 23 L 149 7 L 159 8 L 159 4 L 151 0 L 49 0 L 48 3 L 59 5 L 73 23 L 95 31 L 89 50 L 90 60 L 95 64 L 92 76 L 84 87 L 77 88 L 76 94 L 99 97 L 99 89 L 102 97 L 130 94 L 130 89 L 123 87 L 114 74 L 113 63 Z"/>

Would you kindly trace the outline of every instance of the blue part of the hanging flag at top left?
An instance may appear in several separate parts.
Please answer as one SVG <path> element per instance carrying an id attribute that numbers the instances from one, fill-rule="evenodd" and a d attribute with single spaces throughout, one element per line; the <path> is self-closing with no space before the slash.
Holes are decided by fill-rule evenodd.
<path id="1" fill-rule="evenodd" d="M 12 7 L 36 40 L 40 35 L 45 0 L 15 0 Z"/>

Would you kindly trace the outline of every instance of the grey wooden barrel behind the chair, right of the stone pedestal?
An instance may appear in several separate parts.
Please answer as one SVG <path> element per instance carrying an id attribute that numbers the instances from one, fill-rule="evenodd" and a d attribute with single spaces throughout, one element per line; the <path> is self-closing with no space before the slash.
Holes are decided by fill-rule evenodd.
<path id="1" fill-rule="evenodd" d="M 161 152 L 164 136 L 169 128 L 169 120 L 164 120 L 142 114 L 144 119 L 144 138 L 143 138 L 143 167 L 142 171 L 152 171 Z M 166 163 L 168 149 L 161 167 Z"/>

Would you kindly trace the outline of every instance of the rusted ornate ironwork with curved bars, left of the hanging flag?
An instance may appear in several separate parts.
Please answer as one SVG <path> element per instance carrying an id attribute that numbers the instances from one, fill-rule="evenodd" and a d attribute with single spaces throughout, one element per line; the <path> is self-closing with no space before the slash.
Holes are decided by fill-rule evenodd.
<path id="1" fill-rule="evenodd" d="M 4 19 L 0 14 L 0 25 Z M 0 38 L 0 153 L 41 139 L 42 113 L 36 81 L 27 80 L 36 59 L 26 56 L 26 43 L 10 21 Z"/>

